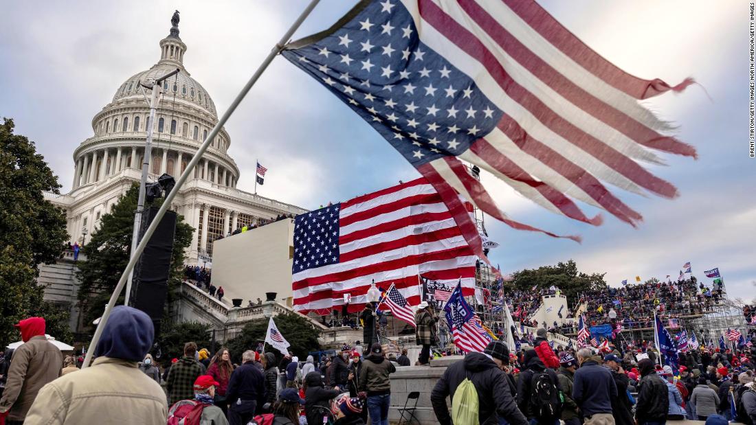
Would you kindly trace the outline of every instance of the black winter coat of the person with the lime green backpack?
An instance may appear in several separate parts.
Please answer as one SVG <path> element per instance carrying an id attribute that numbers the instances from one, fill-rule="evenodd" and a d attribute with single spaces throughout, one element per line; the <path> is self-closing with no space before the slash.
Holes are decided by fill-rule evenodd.
<path id="1" fill-rule="evenodd" d="M 439 423 L 451 425 L 446 397 L 454 399 L 454 392 L 466 377 L 472 380 L 478 391 L 481 425 L 499 423 L 497 414 L 509 421 L 511 425 L 528 424 L 528 420 L 519 411 L 512 397 L 507 376 L 493 360 L 482 353 L 469 353 L 463 360 L 449 366 L 435 384 L 430 394 L 430 401 Z"/>

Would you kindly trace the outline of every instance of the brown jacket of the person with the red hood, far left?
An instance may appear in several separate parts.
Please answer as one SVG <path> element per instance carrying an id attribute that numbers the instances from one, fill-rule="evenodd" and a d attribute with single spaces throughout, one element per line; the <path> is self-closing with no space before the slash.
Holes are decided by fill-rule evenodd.
<path id="1" fill-rule="evenodd" d="M 39 390 L 60 376 L 63 354 L 44 335 L 29 338 L 13 353 L 8 380 L 0 400 L 0 412 L 8 411 L 8 420 L 23 420 Z"/>

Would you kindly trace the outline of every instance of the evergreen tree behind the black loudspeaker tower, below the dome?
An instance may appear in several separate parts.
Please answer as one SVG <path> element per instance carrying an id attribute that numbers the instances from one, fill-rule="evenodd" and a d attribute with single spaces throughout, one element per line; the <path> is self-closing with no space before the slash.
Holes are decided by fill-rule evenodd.
<path id="1" fill-rule="evenodd" d="M 85 324 L 90 324 L 94 319 L 102 316 L 105 304 L 113 294 L 126 264 L 129 263 L 138 194 L 139 186 L 134 184 L 119 199 L 119 202 L 113 205 L 112 210 L 101 217 L 98 229 L 82 248 L 87 260 L 79 263 L 77 276 L 81 282 L 79 306 L 82 309 Z M 151 204 L 147 202 L 145 208 L 159 207 L 162 203 L 163 199 L 155 199 Z M 192 233 L 192 227 L 184 223 L 184 217 L 179 215 L 173 239 L 166 313 L 167 306 L 175 297 L 175 291 L 181 285 L 184 250 L 191 243 Z M 119 304 L 123 303 L 124 294 L 125 291 L 120 294 Z"/>

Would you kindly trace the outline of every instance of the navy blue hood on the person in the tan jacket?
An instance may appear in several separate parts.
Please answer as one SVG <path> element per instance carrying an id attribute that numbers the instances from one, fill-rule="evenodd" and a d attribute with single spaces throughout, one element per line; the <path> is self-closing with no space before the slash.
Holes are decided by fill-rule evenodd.
<path id="1" fill-rule="evenodd" d="M 147 313 L 116 306 L 110 312 L 95 348 L 95 356 L 141 362 L 152 348 L 155 328 Z"/>

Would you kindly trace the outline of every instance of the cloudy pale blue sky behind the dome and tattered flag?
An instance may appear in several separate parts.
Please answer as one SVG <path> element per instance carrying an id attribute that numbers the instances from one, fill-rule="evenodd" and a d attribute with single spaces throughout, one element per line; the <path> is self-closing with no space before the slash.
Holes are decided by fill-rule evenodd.
<path id="1" fill-rule="evenodd" d="M 92 134 L 91 118 L 116 88 L 160 56 L 175 8 L 181 10 L 184 64 L 222 112 L 304 7 L 287 2 L 6 2 L 0 17 L 0 116 L 35 140 L 64 185 L 73 180 L 73 149 Z M 324 0 L 296 33 L 327 28 L 353 2 Z M 728 291 L 754 296 L 756 162 L 748 158 L 748 4 L 699 0 L 614 2 L 542 0 L 551 14 L 621 68 L 643 78 L 699 82 L 646 104 L 679 126 L 699 159 L 668 156 L 652 171 L 676 184 L 673 201 L 623 195 L 645 221 L 633 229 L 613 217 L 592 227 L 557 217 L 491 182 L 513 218 L 562 234 L 579 245 L 517 232 L 486 220 L 500 242 L 491 260 L 504 271 L 575 259 L 606 272 L 611 285 L 641 276 L 676 276 L 719 267 Z M 226 130 L 251 190 L 255 159 L 268 167 L 263 196 L 305 208 L 350 199 L 417 177 L 375 131 L 317 82 L 277 58 Z M 591 208 L 584 206 L 588 212 Z M 591 214 L 593 215 L 593 214 Z M 710 279 L 705 279 L 706 281 Z"/>

